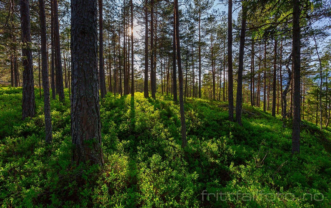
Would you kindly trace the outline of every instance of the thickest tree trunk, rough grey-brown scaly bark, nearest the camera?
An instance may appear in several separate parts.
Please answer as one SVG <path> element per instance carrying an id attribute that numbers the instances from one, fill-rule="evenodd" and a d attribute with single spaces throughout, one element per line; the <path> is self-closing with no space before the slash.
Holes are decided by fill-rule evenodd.
<path id="1" fill-rule="evenodd" d="M 98 80 L 97 0 L 71 0 L 72 161 L 104 164 Z"/>

